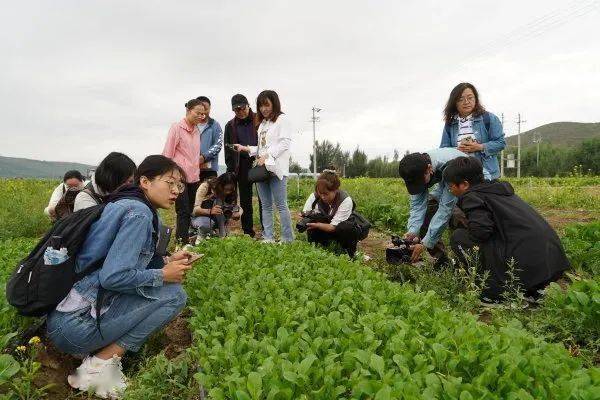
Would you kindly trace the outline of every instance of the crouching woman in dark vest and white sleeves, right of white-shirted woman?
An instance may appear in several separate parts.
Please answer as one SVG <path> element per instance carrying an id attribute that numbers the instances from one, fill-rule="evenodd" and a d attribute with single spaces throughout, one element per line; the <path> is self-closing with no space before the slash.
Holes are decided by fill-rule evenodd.
<path id="1" fill-rule="evenodd" d="M 315 192 L 306 199 L 297 228 L 306 230 L 308 241 L 323 246 L 337 242 L 354 257 L 360 240 L 357 224 L 350 220 L 356 205 L 340 190 L 340 178 L 333 170 L 324 170 L 317 179 Z"/>

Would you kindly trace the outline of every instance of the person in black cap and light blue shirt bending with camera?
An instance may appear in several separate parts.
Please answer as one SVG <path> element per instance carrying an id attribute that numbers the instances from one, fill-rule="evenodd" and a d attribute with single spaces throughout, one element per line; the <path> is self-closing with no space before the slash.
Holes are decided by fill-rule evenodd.
<path id="1" fill-rule="evenodd" d="M 443 172 L 448 161 L 464 156 L 455 148 L 440 148 L 408 154 L 400 160 L 398 171 L 410 194 L 408 232 L 404 238 L 415 243 L 411 262 L 418 261 L 425 249 L 437 259 L 436 265 L 447 262 L 440 239 L 452 216 L 456 197 L 450 193 Z"/>

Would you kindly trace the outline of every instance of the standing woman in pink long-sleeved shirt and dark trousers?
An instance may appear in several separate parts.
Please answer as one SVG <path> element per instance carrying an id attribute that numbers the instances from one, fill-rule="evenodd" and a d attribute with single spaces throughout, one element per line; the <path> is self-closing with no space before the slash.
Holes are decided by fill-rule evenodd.
<path id="1" fill-rule="evenodd" d="M 200 156 L 200 133 L 197 125 L 206 114 L 204 105 L 198 99 L 185 103 L 185 118 L 171 125 L 163 155 L 172 159 L 186 175 L 185 189 L 177 197 L 177 240 L 188 244 L 190 221 L 196 190 L 200 184 L 200 165 L 204 160 Z"/>

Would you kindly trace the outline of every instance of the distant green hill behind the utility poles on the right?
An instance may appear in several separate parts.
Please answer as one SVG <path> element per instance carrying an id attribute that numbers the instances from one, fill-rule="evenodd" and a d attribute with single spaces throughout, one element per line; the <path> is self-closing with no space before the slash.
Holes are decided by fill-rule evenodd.
<path id="1" fill-rule="evenodd" d="M 600 122 L 553 122 L 538 126 L 521 133 L 521 146 L 533 145 L 534 134 L 541 135 L 542 143 L 550 143 L 554 146 L 576 146 L 586 139 L 600 137 Z M 517 136 L 508 136 L 506 143 L 509 146 L 516 146 Z"/>

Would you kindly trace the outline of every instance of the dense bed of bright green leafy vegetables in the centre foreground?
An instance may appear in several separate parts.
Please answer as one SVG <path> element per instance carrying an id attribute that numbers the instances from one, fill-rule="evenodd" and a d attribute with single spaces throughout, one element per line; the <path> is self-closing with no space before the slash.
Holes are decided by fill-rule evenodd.
<path id="1" fill-rule="evenodd" d="M 206 258 L 186 284 L 194 344 L 182 363 L 201 369 L 171 376 L 178 396 L 200 387 L 214 399 L 600 396 L 600 370 L 563 346 L 453 312 L 433 292 L 346 258 L 243 238 L 200 250 Z M 160 369 L 149 370 L 131 398 L 172 392 L 148 376 Z"/>

